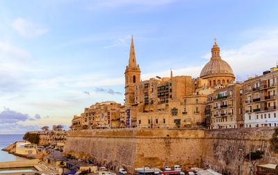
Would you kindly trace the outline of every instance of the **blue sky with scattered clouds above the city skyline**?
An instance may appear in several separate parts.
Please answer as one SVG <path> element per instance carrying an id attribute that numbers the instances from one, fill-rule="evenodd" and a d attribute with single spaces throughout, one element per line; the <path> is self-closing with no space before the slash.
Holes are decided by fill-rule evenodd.
<path id="1" fill-rule="evenodd" d="M 0 1 L 0 134 L 71 125 L 124 103 L 133 35 L 142 80 L 197 78 L 217 38 L 236 81 L 278 61 L 278 1 Z"/>

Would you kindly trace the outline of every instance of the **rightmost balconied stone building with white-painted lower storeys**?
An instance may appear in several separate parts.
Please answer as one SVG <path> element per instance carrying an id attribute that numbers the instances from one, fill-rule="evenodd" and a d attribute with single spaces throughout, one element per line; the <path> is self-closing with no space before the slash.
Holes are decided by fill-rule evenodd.
<path id="1" fill-rule="evenodd" d="M 245 127 L 278 126 L 277 78 L 278 68 L 273 67 L 243 83 Z"/>

